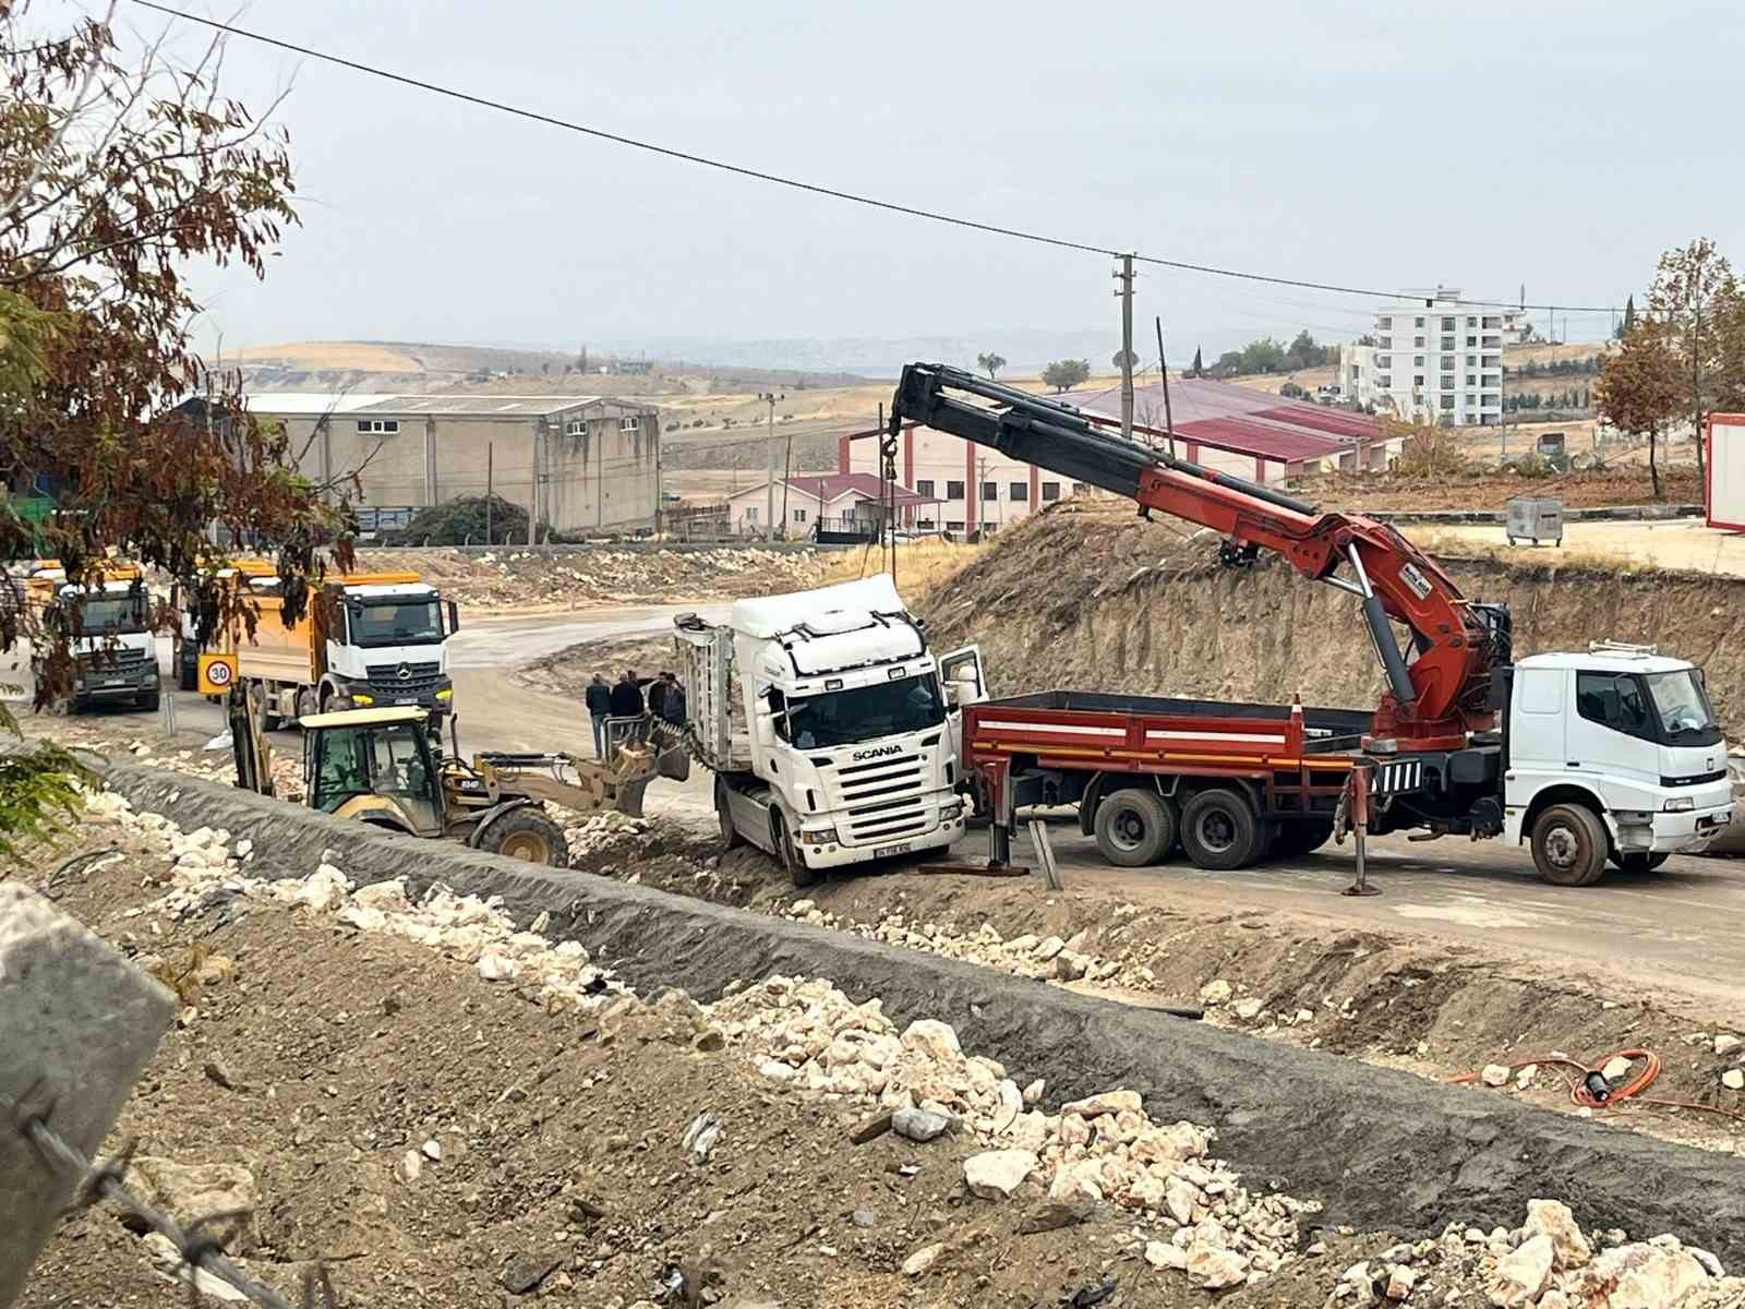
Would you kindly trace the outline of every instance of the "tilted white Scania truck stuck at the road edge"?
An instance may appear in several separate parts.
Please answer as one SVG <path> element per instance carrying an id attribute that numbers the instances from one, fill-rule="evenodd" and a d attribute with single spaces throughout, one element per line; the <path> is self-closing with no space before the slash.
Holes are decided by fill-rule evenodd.
<path id="1" fill-rule="evenodd" d="M 768 850 L 806 887 L 963 834 L 958 710 L 982 698 L 981 653 L 935 660 L 888 574 L 675 627 L 686 737 L 715 773 L 729 845 Z"/>

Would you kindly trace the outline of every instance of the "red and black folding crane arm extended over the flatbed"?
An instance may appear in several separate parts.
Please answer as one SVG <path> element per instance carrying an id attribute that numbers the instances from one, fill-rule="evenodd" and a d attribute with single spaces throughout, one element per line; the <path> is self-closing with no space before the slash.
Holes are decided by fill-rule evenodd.
<path id="1" fill-rule="evenodd" d="M 1490 670 L 1509 658 L 1501 606 L 1466 600 L 1447 572 L 1387 524 L 1316 506 L 1246 478 L 1122 440 L 1059 401 L 984 380 L 961 368 L 911 363 L 892 401 L 890 429 L 920 422 L 1021 463 L 1085 482 L 1223 534 L 1220 557 L 1251 562 L 1260 550 L 1304 576 L 1351 592 L 1387 675 L 1375 735 L 1401 749 L 1459 749 L 1495 724 Z M 1408 663 L 1389 620 L 1412 634 Z"/>

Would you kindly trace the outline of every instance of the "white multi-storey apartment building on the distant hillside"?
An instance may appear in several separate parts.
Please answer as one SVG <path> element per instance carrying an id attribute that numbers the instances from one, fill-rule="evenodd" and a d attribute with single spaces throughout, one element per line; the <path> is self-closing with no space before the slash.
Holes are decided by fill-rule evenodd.
<path id="1" fill-rule="evenodd" d="M 1401 419 L 1433 417 L 1454 428 L 1502 422 L 1506 312 L 1455 304 L 1459 288 L 1406 295 L 1375 311 L 1373 347 L 1342 351 L 1345 394 Z"/>

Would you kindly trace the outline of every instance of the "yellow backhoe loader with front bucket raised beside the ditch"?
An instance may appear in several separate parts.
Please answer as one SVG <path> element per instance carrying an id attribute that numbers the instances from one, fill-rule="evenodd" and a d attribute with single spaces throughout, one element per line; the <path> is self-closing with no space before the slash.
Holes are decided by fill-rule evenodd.
<path id="1" fill-rule="evenodd" d="M 229 696 L 236 777 L 239 787 L 270 796 L 272 752 L 255 695 L 239 686 Z M 689 754 L 665 724 L 653 724 L 647 740 L 616 744 L 609 761 L 482 752 L 468 763 L 457 745 L 443 754 L 429 714 L 415 705 L 311 714 L 302 730 L 309 808 L 551 867 L 569 866 L 569 843 L 544 801 L 579 813 L 640 817 L 654 777 L 682 782 L 689 773 Z"/>

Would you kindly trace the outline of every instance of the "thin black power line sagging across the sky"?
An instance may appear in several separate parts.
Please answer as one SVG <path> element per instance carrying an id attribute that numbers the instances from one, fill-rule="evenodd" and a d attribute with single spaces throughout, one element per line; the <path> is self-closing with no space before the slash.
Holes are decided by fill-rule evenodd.
<path id="1" fill-rule="evenodd" d="M 974 218 L 958 218 L 956 215 L 939 213 L 935 209 L 920 209 L 911 204 L 897 204 L 895 201 L 881 201 L 876 195 L 862 195 L 853 190 L 839 190 L 836 187 L 824 187 L 815 182 L 801 182 L 799 178 L 789 178 L 780 173 L 766 173 L 757 168 L 745 168 L 743 164 L 729 164 L 722 159 L 710 159 L 708 155 L 691 154 L 689 150 L 677 150 L 668 145 L 658 145 L 654 141 L 644 141 L 635 136 L 621 136 L 619 133 L 609 133 L 604 127 L 588 127 L 581 122 L 572 122 L 569 119 L 558 119 L 550 113 L 541 113 L 539 110 L 520 108 L 517 105 L 508 105 L 501 99 L 490 99 L 489 96 L 475 96 L 468 91 L 455 91 L 454 87 L 445 87 L 436 82 L 426 82 L 417 77 L 408 77 L 407 73 L 396 73 L 387 68 L 379 68 L 375 65 L 359 63 L 356 59 L 347 59 L 339 54 L 328 54 L 326 51 L 318 51 L 311 45 L 298 45 L 297 42 L 281 40 L 279 37 L 267 37 L 260 31 L 250 31 L 248 28 L 239 28 L 232 23 L 220 23 L 215 17 L 204 17 L 201 14 L 190 14 L 183 9 L 174 9 L 171 5 L 159 3 L 157 0 L 133 0 L 133 3 L 145 9 L 155 9 L 161 14 L 169 14 L 171 17 L 185 19 L 187 23 L 199 23 L 216 31 L 225 31 L 232 37 L 243 37 L 246 40 L 260 42 L 262 45 L 274 45 L 281 51 L 290 51 L 291 54 L 302 54 L 309 59 L 321 59 L 323 63 L 339 65 L 340 68 L 351 68 L 356 73 L 366 73 L 368 77 L 380 77 L 387 82 L 398 82 L 401 86 L 410 86 L 419 91 L 429 91 L 436 96 L 447 96 L 448 99 L 459 99 L 468 105 L 476 105 L 478 108 L 497 110 L 499 113 L 511 113 L 518 119 L 529 119 L 530 122 L 543 122 L 548 127 L 562 127 L 564 131 L 581 133 L 583 136 L 593 136 L 600 141 L 612 141 L 614 145 L 628 145 L 633 150 L 646 150 L 649 154 L 663 155 L 667 159 L 677 159 L 686 164 L 700 164 L 701 168 L 714 168 L 721 173 L 733 173 L 742 178 L 752 178 L 754 182 L 768 182 L 777 187 L 789 187 L 792 190 L 804 190 L 813 195 L 825 195 L 829 199 L 848 201 L 852 204 L 866 204 L 872 209 L 885 209 L 888 213 L 902 213 L 911 218 L 927 218 L 935 223 L 949 223 L 951 227 L 965 227 L 974 232 L 989 232 L 993 236 L 1009 236 L 1017 241 L 1031 241 L 1042 246 L 1056 246 L 1057 250 L 1077 250 L 1085 255 L 1108 255 L 1110 258 L 1120 258 L 1131 251 L 1113 250 L 1110 246 L 1094 246 L 1085 241 L 1068 241 L 1057 236 L 1047 236 L 1044 232 L 1030 232 L 1019 227 L 1002 227 L 998 223 L 982 223 Z M 1216 264 L 1194 264 L 1188 260 L 1160 258 L 1157 255 L 1138 255 L 1133 253 L 1138 264 L 1150 264 L 1153 267 L 1178 269 L 1181 272 L 1202 272 L 1213 278 L 1237 278 L 1241 281 L 1258 281 L 1269 283 L 1272 286 L 1300 286 L 1310 291 L 1333 291 L 1337 295 L 1365 295 L 1384 300 L 1422 300 L 1422 295 L 1408 295 L 1406 291 L 1379 291 L 1368 286 L 1345 286 L 1340 283 L 1324 281 L 1305 281 L 1300 278 L 1277 278 L 1265 272 L 1246 272 L 1242 269 L 1227 269 Z M 1515 304 L 1513 300 L 1441 300 L 1441 304 L 1483 307 L 1483 309 L 1544 309 L 1560 311 L 1570 314 L 1609 314 L 1616 311 L 1618 305 L 1550 305 L 1550 304 Z"/>

